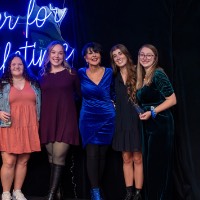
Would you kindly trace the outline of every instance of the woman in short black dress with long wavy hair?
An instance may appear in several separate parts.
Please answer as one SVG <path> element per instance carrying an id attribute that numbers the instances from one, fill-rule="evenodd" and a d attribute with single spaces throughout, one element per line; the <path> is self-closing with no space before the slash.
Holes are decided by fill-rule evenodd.
<path id="1" fill-rule="evenodd" d="M 136 102 L 136 69 L 127 48 L 118 44 L 110 51 L 115 74 L 116 128 L 113 149 L 122 152 L 126 184 L 124 200 L 141 199 L 143 164 Z M 135 184 L 135 192 L 133 185 Z"/>

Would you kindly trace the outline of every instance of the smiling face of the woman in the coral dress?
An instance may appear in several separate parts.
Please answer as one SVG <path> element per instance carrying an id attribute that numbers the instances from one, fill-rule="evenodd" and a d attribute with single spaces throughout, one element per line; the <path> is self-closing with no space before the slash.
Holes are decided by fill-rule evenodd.
<path id="1" fill-rule="evenodd" d="M 19 57 L 14 57 L 10 63 L 10 71 L 13 78 L 23 77 L 24 65 Z"/>

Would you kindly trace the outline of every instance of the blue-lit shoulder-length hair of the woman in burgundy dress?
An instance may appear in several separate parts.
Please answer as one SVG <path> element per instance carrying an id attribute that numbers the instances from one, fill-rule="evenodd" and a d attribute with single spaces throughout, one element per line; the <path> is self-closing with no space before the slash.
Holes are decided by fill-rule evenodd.
<path id="1" fill-rule="evenodd" d="M 50 70 L 51 70 L 50 53 L 56 45 L 60 45 L 62 47 L 63 53 L 64 53 L 64 59 L 63 59 L 63 62 L 62 62 L 62 66 L 64 68 L 66 68 L 69 71 L 69 73 L 71 74 L 71 66 L 65 60 L 66 51 L 65 51 L 65 48 L 63 46 L 63 43 L 60 42 L 60 41 L 53 41 L 47 46 L 46 53 L 45 53 L 45 56 L 44 56 L 44 59 L 43 59 L 43 62 L 42 62 L 42 69 L 40 71 L 40 75 L 45 75 L 45 74 L 48 74 L 50 72 Z"/>

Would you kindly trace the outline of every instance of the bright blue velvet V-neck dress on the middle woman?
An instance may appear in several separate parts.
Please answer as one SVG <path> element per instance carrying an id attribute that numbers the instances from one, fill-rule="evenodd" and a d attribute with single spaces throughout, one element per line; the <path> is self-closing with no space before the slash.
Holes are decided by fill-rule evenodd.
<path id="1" fill-rule="evenodd" d="M 82 144 L 83 147 L 87 144 L 111 144 L 115 122 L 115 109 L 111 101 L 113 72 L 111 68 L 105 68 L 97 85 L 89 79 L 86 69 L 81 68 L 78 71 L 82 93 L 79 118 Z"/>

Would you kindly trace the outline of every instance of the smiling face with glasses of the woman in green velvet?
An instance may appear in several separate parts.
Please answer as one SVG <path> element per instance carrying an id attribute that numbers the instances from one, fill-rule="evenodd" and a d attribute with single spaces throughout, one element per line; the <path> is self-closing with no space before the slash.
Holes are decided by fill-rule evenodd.
<path id="1" fill-rule="evenodd" d="M 145 70 L 149 69 L 154 65 L 155 58 L 156 56 L 154 52 L 147 47 L 143 47 L 138 55 L 139 62 L 144 67 Z"/>

